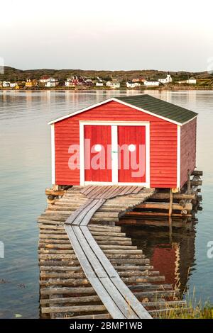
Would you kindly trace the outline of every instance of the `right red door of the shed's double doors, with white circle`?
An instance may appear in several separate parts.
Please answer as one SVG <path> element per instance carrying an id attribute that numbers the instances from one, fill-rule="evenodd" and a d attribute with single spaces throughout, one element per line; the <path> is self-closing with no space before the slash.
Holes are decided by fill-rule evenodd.
<path id="1" fill-rule="evenodd" d="M 146 126 L 118 126 L 119 183 L 146 183 Z"/>

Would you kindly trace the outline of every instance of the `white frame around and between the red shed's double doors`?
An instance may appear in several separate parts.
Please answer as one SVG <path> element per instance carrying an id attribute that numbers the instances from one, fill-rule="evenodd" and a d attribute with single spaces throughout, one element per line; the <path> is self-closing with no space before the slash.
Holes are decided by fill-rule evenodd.
<path id="1" fill-rule="evenodd" d="M 145 126 L 146 127 L 146 183 L 119 183 L 118 182 L 118 158 L 112 154 L 111 182 L 84 181 L 84 125 L 108 125 L 111 126 L 111 150 L 116 151 L 118 146 L 117 126 Z M 80 185 L 140 185 L 150 187 L 150 123 L 145 121 L 100 121 L 80 120 Z"/>

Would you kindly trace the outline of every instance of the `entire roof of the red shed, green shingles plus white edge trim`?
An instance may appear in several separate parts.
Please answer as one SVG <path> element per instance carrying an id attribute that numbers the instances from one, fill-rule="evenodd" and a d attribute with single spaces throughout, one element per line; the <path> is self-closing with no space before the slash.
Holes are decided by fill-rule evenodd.
<path id="1" fill-rule="evenodd" d="M 58 121 L 63 120 L 65 118 L 72 117 L 73 115 L 76 115 L 78 113 L 88 111 L 104 103 L 108 103 L 109 101 L 116 101 L 123 103 L 127 106 L 136 108 L 138 111 L 143 111 L 145 113 L 155 115 L 158 118 L 168 120 L 171 123 L 175 123 L 177 125 L 183 125 L 184 123 L 187 123 L 188 121 L 197 117 L 197 113 L 187 110 L 186 108 L 182 108 L 180 106 L 176 106 L 175 104 L 162 101 L 159 98 L 143 94 L 135 96 L 118 96 L 118 97 L 116 96 L 112 98 L 107 98 L 104 101 L 101 101 L 87 108 L 83 108 L 80 111 L 73 111 L 69 115 L 65 115 L 58 119 L 50 121 L 49 125 L 57 123 Z"/>

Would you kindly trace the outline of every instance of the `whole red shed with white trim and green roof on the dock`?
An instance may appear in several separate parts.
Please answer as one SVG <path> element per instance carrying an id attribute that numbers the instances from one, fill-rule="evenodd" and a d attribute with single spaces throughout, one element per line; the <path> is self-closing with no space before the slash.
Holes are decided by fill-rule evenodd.
<path id="1" fill-rule="evenodd" d="M 197 113 L 143 94 L 109 98 L 51 121 L 53 185 L 179 191 L 195 169 Z"/>

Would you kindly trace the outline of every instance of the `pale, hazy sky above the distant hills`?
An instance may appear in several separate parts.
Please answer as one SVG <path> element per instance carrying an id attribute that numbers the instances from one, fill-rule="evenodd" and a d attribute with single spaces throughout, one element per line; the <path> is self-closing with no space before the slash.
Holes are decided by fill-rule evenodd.
<path id="1" fill-rule="evenodd" d="M 212 9 L 212 0 L 0 0 L 0 65 L 213 69 Z"/>

